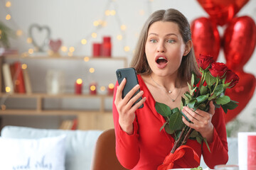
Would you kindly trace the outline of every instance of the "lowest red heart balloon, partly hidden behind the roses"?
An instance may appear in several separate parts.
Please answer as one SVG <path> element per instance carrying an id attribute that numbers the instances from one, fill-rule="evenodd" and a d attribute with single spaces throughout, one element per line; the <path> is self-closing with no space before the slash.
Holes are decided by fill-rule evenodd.
<path id="1" fill-rule="evenodd" d="M 247 103 L 252 98 L 255 91 L 256 79 L 252 74 L 247 74 L 245 72 L 235 72 L 238 74 L 239 82 L 232 89 L 227 89 L 225 95 L 230 96 L 233 101 L 238 101 L 238 107 L 234 110 L 228 110 L 225 114 L 225 123 L 233 120 L 241 111 L 245 108 Z"/>

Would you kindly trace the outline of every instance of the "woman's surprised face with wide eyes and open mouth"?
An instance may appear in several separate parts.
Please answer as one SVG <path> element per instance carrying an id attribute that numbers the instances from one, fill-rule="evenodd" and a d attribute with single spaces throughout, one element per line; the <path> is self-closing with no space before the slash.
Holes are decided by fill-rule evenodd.
<path id="1" fill-rule="evenodd" d="M 157 21 L 149 27 L 145 53 L 154 74 L 161 77 L 177 74 L 185 50 L 177 23 Z"/>

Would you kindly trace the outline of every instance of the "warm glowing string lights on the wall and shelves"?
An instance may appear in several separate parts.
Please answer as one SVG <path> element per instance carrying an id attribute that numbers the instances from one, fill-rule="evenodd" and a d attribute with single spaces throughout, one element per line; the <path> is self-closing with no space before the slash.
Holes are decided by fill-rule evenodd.
<path id="1" fill-rule="evenodd" d="M 144 0 L 147 5 L 147 8 L 151 8 L 150 7 L 150 3 L 154 0 Z M 12 14 L 11 14 L 11 7 L 12 5 L 15 3 L 15 1 L 5 1 L 2 0 L 0 3 L 4 4 L 4 9 L 6 12 L 5 15 L 5 19 L 6 22 L 12 24 L 12 26 L 16 29 L 15 33 L 17 38 L 24 38 L 25 37 L 25 41 L 27 44 L 32 45 L 33 39 L 31 37 L 29 37 L 26 34 L 25 30 L 22 30 L 21 27 L 18 26 L 18 24 L 16 24 L 15 22 L 15 18 L 13 18 Z M 151 11 L 150 9 L 148 9 L 148 11 Z M 145 14 L 144 9 L 140 9 L 139 11 L 137 11 L 139 13 L 139 15 L 143 16 Z M 108 18 L 114 18 L 114 21 L 116 21 L 116 25 L 110 25 L 109 23 L 107 23 L 107 19 Z M 95 40 L 95 38 L 97 38 L 97 36 L 99 36 L 99 32 L 102 28 L 106 28 L 106 27 L 115 27 L 117 26 L 119 29 L 119 33 L 117 33 L 116 35 L 112 35 L 113 38 L 116 38 L 116 40 L 118 40 L 117 42 L 122 43 L 122 47 L 124 52 L 127 53 L 127 55 L 132 55 L 132 50 L 131 47 L 129 45 L 127 45 L 127 25 L 122 22 L 120 16 L 119 16 L 119 11 L 118 11 L 118 2 L 115 0 L 108 0 L 107 4 L 105 6 L 105 9 L 102 11 L 102 17 L 100 19 L 95 19 L 95 21 L 92 22 L 93 25 L 93 29 L 91 32 L 87 33 L 86 35 L 83 35 L 82 38 L 80 38 L 80 40 L 78 40 L 78 43 L 75 43 L 75 45 L 88 45 L 88 44 L 92 44 L 92 41 Z M 1 30 L 0 30 L 0 38 L 1 38 Z M 75 45 L 68 47 L 66 45 L 63 45 L 60 47 L 61 52 L 64 53 L 64 55 L 66 54 L 68 57 L 73 57 L 73 53 L 75 52 L 75 49 L 77 49 L 78 47 L 75 47 Z M 26 52 L 22 52 L 21 53 L 21 57 L 28 57 L 33 55 L 37 50 L 34 47 L 28 47 L 28 50 L 26 50 Z M 52 52 L 48 52 L 48 55 L 52 55 Z M 89 62 L 90 61 L 90 57 L 84 57 L 83 58 L 84 62 Z M 27 65 L 23 64 L 22 67 L 26 67 L 23 69 L 27 69 Z M 95 73 L 95 68 L 90 68 L 89 69 L 90 74 Z M 114 86 L 113 84 L 109 84 L 109 86 L 107 86 L 109 89 L 112 89 L 112 86 Z M 6 92 L 10 91 L 10 89 L 6 88 Z M 100 91 L 106 91 L 106 87 L 105 86 L 101 86 L 100 87 Z M 1 102 L 3 103 L 3 102 Z M 4 106 L 1 106 L 1 108 L 5 109 Z"/>

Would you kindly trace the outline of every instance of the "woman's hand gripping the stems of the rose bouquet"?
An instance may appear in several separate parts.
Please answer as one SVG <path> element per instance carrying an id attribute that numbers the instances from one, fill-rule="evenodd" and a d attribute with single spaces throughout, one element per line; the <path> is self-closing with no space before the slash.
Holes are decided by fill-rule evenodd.
<path id="1" fill-rule="evenodd" d="M 184 106 L 182 112 L 191 120 L 191 123 L 186 120 L 183 116 L 182 120 L 188 127 L 201 133 L 203 137 L 206 137 L 207 142 L 212 142 L 213 140 L 213 123 L 211 122 L 213 115 L 215 113 L 215 106 L 213 101 L 210 101 L 209 112 L 201 111 L 197 109 L 193 111 L 193 108 L 188 108 Z"/>

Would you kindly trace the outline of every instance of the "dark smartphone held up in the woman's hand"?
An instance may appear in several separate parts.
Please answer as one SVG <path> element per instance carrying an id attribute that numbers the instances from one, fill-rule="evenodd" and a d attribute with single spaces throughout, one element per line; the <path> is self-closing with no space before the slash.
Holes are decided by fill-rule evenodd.
<path id="1" fill-rule="evenodd" d="M 134 68 L 124 68 L 124 69 L 117 69 L 116 74 L 117 74 L 117 81 L 119 84 L 121 84 L 124 78 L 127 79 L 127 83 L 125 84 L 124 90 L 122 91 L 122 98 L 124 98 L 124 96 L 126 96 L 129 93 L 129 91 L 131 91 L 132 88 L 134 88 L 134 86 L 139 84 L 137 73 Z M 135 92 L 134 96 L 138 94 L 139 91 L 140 89 Z M 138 103 L 140 100 L 142 100 L 142 97 L 140 97 L 134 104 Z M 139 108 L 143 108 L 143 104 L 142 106 L 139 106 Z"/>

